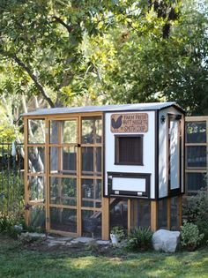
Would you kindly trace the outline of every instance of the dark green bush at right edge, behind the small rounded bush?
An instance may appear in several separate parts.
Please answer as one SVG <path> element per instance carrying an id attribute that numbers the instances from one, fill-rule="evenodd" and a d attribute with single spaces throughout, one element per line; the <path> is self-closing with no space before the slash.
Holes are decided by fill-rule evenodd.
<path id="1" fill-rule="evenodd" d="M 197 225 L 199 232 L 204 234 L 204 242 L 208 240 L 208 193 L 206 189 L 197 192 L 183 206 L 183 214 L 188 222 Z"/>

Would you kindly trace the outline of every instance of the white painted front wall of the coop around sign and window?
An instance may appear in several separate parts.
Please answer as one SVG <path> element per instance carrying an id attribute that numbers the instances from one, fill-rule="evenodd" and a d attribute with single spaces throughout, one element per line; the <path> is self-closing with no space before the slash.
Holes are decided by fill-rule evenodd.
<path id="1" fill-rule="evenodd" d="M 130 112 L 126 112 L 127 114 Z M 131 113 L 135 113 L 132 112 Z M 106 113 L 105 120 L 105 192 L 108 194 L 108 175 L 107 172 L 122 173 L 149 173 L 151 174 L 151 198 L 155 197 L 155 112 L 142 111 L 137 113 L 148 114 L 148 131 L 144 133 L 119 133 L 122 134 L 144 134 L 143 138 L 143 166 L 138 165 L 115 165 L 115 134 L 110 131 L 111 115 L 116 113 Z M 118 113 L 121 114 L 121 113 Z M 125 112 L 123 112 L 125 114 Z M 127 184 L 127 191 L 130 190 L 130 184 Z"/>

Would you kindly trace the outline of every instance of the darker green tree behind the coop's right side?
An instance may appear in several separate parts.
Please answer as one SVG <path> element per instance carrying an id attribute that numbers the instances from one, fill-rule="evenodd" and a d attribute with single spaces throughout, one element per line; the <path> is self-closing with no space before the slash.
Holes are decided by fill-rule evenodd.
<path id="1" fill-rule="evenodd" d="M 208 115 L 208 5 L 191 2 L 184 2 L 168 38 L 130 30 L 112 36 L 117 67 L 108 79 L 113 80 L 113 101 L 177 101 L 189 115 Z"/>

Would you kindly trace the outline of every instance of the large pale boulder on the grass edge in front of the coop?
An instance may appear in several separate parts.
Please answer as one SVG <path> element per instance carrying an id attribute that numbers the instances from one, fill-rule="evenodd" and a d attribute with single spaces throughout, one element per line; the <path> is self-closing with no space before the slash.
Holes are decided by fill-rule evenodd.
<path id="1" fill-rule="evenodd" d="M 159 229 L 153 233 L 152 245 L 155 251 L 175 252 L 179 242 L 180 232 Z"/>

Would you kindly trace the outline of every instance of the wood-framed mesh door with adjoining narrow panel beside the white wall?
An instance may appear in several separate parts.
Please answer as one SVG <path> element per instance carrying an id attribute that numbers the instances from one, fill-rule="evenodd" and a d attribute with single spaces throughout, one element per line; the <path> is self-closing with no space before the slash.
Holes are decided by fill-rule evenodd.
<path id="1" fill-rule="evenodd" d="M 49 122 L 49 229 L 101 237 L 101 117 Z"/>

